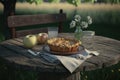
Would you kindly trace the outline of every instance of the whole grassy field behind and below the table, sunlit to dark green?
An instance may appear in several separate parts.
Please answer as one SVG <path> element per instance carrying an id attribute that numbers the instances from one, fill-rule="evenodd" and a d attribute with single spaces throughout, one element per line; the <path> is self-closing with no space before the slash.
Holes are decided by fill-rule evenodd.
<path id="1" fill-rule="evenodd" d="M 64 32 L 74 32 L 75 29 L 69 28 L 69 23 L 74 14 L 79 14 L 83 18 L 90 15 L 93 18 L 93 24 L 86 30 L 94 30 L 96 35 L 120 40 L 120 5 L 118 4 L 81 4 L 78 7 L 74 7 L 67 3 L 43 3 L 41 5 L 17 3 L 16 15 L 58 13 L 59 9 L 63 9 L 64 12 L 67 13 L 67 21 L 64 23 Z M 2 34 L 2 12 L 3 6 L 0 4 L 0 41 L 4 40 L 4 35 Z M 43 25 L 39 26 L 44 27 Z M 0 65 L 3 65 L 0 66 L 0 75 L 2 76 L 0 80 L 36 80 L 37 78 L 37 73 L 35 72 L 17 70 L 15 74 L 12 74 L 4 63 Z M 81 75 L 82 80 L 120 80 L 120 64 L 100 70 L 81 72 Z"/>

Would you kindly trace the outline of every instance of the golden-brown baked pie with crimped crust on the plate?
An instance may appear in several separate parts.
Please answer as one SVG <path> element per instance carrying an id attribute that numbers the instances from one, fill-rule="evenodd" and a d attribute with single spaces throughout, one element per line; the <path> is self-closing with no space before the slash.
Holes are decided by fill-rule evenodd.
<path id="1" fill-rule="evenodd" d="M 50 51 L 54 52 L 77 52 L 81 44 L 79 40 L 68 38 L 51 38 L 47 40 Z"/>

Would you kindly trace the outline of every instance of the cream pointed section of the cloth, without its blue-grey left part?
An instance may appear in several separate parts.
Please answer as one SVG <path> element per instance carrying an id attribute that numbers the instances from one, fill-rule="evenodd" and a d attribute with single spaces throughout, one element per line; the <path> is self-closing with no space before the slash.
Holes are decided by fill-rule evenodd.
<path id="1" fill-rule="evenodd" d="M 83 50 L 80 54 L 71 56 L 56 56 L 57 59 L 67 68 L 70 73 L 74 72 L 87 58 L 92 57 L 92 55 L 99 55 L 98 52 L 93 52 L 89 50 Z"/>

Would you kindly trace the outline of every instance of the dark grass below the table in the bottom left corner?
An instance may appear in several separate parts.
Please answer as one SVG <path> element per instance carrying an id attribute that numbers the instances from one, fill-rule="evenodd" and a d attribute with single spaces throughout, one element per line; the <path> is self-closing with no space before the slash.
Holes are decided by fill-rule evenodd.
<path id="1" fill-rule="evenodd" d="M 37 80 L 37 72 L 15 69 L 0 59 L 0 80 Z"/>

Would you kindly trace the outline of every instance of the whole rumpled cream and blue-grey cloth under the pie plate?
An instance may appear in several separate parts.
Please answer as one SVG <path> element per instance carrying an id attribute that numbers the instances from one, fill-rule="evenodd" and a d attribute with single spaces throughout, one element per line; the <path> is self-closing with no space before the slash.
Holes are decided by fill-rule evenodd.
<path id="1" fill-rule="evenodd" d="M 40 52 L 40 56 L 49 61 L 50 63 L 62 63 L 70 73 L 74 72 L 87 58 L 97 56 L 99 53 L 97 51 L 89 51 L 87 49 L 82 50 L 79 54 L 60 56 L 53 55 L 47 52 Z"/>

